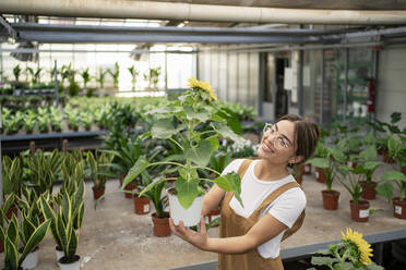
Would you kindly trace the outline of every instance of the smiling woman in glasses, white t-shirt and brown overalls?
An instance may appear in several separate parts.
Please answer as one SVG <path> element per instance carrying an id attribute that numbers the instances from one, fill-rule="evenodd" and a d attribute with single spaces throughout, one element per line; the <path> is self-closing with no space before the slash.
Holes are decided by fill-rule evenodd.
<path id="1" fill-rule="evenodd" d="M 205 195 L 200 230 L 170 222 L 172 232 L 192 245 L 218 253 L 219 270 L 283 269 L 280 242 L 304 219 L 306 196 L 288 164 L 304 162 L 314 151 L 318 125 L 288 114 L 267 124 L 258 149 L 260 159 L 232 161 L 223 174 L 241 177 L 241 200 L 217 185 Z M 222 204 L 220 237 L 208 238 L 203 217 Z"/>

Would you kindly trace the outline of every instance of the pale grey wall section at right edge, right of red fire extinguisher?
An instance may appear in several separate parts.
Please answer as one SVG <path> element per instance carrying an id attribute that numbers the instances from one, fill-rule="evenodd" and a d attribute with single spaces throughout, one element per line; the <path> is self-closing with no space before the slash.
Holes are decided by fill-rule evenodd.
<path id="1" fill-rule="evenodd" d="M 377 88 L 377 119 L 389 122 L 391 113 L 402 112 L 406 126 L 406 46 L 384 47 L 380 51 Z"/>

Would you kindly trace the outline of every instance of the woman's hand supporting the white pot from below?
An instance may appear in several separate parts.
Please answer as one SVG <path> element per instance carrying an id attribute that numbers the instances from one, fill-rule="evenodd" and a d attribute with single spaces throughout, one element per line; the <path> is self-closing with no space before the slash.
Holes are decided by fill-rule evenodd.
<path id="1" fill-rule="evenodd" d="M 205 250 L 207 246 L 207 232 L 206 223 L 204 222 L 203 217 L 200 218 L 200 226 L 198 232 L 190 230 L 189 228 L 186 228 L 182 221 L 179 222 L 179 225 L 175 225 L 174 220 L 171 218 L 169 219 L 169 226 L 175 235 L 178 235 L 179 237 L 181 237 L 186 242 L 189 242 L 193 246 Z"/>

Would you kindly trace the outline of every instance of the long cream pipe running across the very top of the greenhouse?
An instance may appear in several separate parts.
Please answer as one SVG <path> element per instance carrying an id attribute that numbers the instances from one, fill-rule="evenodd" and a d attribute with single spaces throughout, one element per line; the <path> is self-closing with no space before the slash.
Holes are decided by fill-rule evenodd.
<path id="1" fill-rule="evenodd" d="M 394 25 L 406 10 L 308 10 L 129 0 L 1 0 L 3 14 L 239 23 Z"/>

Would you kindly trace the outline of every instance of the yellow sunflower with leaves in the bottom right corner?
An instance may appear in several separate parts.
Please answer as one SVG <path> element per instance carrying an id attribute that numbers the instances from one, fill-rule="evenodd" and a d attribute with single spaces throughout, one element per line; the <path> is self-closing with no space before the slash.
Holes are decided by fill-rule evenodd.
<path id="1" fill-rule="evenodd" d="M 327 249 L 318 250 L 317 254 L 325 256 L 313 256 L 311 258 L 311 263 L 313 266 L 326 266 L 332 270 L 384 269 L 371 260 L 371 245 L 362 238 L 361 233 L 347 228 L 345 233 L 342 232 L 342 241 L 337 244 L 330 245 Z M 314 269 L 315 268 L 310 268 L 308 270 Z"/>

